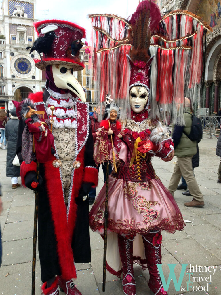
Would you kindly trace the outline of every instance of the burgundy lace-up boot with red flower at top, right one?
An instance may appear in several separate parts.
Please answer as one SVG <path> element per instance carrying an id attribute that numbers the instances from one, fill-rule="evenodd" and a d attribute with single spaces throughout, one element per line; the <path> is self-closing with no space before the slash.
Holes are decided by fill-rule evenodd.
<path id="1" fill-rule="evenodd" d="M 151 295 L 168 295 L 164 291 L 161 282 L 160 274 L 155 263 L 161 263 L 161 240 L 162 235 L 160 231 L 149 232 L 142 236 L 145 247 L 145 256 L 147 267 L 149 270 L 150 279 L 148 286 L 151 290 Z"/>

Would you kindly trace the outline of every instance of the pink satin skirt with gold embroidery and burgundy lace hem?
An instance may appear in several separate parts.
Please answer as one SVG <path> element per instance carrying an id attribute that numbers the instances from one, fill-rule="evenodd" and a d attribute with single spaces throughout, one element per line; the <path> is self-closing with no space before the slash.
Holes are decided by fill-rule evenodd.
<path id="1" fill-rule="evenodd" d="M 90 227 L 103 234 L 106 183 L 89 213 Z M 109 176 L 108 231 L 126 237 L 150 230 L 174 233 L 185 226 L 176 201 L 160 179 L 131 182 Z"/>

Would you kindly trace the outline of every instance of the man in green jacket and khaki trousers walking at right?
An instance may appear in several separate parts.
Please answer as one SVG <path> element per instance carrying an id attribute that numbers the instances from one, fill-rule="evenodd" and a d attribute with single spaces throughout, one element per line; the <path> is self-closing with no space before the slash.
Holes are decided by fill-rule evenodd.
<path id="1" fill-rule="evenodd" d="M 186 202 L 184 205 L 187 207 L 203 207 L 203 195 L 199 189 L 196 178 L 194 177 L 192 168 L 192 157 L 197 153 L 197 142 L 190 140 L 187 136 L 191 131 L 191 112 L 193 112 L 191 102 L 187 97 L 185 97 L 185 107 L 187 109 L 187 111 L 184 112 L 185 126 L 173 126 L 172 137 L 174 140 L 174 155 L 177 156 L 177 163 L 175 164 L 168 190 L 173 196 L 180 178 L 183 176 L 186 180 L 189 192 L 193 196 L 192 201 Z"/>

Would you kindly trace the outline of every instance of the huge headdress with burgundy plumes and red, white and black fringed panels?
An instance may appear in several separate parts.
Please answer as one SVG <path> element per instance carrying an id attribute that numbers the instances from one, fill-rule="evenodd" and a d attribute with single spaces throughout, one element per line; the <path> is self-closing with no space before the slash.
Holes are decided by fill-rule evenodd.
<path id="1" fill-rule="evenodd" d="M 165 119 L 169 115 L 175 122 L 178 117 L 178 124 L 184 124 L 184 97 L 192 102 L 200 97 L 203 38 L 212 29 L 187 11 L 161 18 L 152 0 L 142 1 L 130 21 L 110 14 L 89 17 L 94 28 L 93 78 L 98 99 L 105 101 L 106 94 L 111 94 L 124 119 L 129 88 L 141 85 L 149 89 L 151 117 L 160 117 L 162 110 Z"/>

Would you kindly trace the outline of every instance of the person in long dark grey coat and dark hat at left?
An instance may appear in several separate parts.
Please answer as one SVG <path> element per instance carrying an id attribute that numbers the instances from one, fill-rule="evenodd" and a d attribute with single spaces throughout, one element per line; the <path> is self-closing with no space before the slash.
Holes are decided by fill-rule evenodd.
<path id="1" fill-rule="evenodd" d="M 21 184 L 18 183 L 18 176 L 20 176 L 20 166 L 14 166 L 12 164 L 14 157 L 16 156 L 16 144 L 19 126 L 16 108 L 11 110 L 9 116 L 11 120 L 9 120 L 5 125 L 5 137 L 8 141 L 6 177 L 11 177 L 12 189 L 17 189 L 17 187 L 21 186 Z"/>

